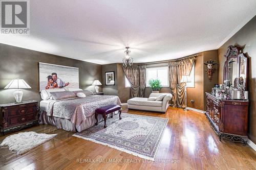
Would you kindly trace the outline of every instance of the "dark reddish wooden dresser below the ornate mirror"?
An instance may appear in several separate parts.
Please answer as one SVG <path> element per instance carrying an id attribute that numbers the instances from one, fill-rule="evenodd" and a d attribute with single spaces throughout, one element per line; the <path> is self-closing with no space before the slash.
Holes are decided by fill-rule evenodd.
<path id="1" fill-rule="evenodd" d="M 248 140 L 248 100 L 225 100 L 206 93 L 206 117 L 220 140 L 226 138 L 233 142 Z"/>

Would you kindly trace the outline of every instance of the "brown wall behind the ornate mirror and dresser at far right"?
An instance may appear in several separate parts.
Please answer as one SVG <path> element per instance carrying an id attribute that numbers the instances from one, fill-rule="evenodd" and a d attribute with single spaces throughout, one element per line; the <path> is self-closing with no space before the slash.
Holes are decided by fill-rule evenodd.
<path id="1" fill-rule="evenodd" d="M 239 32 L 233 35 L 218 50 L 219 83 L 223 83 L 224 57 L 229 45 L 244 46 L 243 53 L 249 57 L 248 91 L 249 91 L 249 138 L 256 143 L 256 16 L 254 16 Z"/>

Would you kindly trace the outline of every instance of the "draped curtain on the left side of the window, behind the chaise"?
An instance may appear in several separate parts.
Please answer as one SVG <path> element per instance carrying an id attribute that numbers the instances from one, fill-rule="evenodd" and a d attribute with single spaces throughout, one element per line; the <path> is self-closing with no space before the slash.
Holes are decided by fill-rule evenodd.
<path id="1" fill-rule="evenodd" d="M 123 67 L 124 74 L 131 84 L 130 98 L 143 98 L 146 86 L 146 66 L 133 65 Z"/>

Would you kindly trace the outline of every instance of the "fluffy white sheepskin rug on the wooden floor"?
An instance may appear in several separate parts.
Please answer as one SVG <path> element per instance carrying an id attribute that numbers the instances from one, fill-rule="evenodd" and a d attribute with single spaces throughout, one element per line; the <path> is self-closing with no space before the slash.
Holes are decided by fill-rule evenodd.
<path id="1" fill-rule="evenodd" d="M 22 155 L 56 136 L 57 134 L 48 135 L 36 132 L 20 132 L 6 137 L 0 144 L 0 147 L 8 146 L 10 151 L 15 151 L 17 155 Z"/>

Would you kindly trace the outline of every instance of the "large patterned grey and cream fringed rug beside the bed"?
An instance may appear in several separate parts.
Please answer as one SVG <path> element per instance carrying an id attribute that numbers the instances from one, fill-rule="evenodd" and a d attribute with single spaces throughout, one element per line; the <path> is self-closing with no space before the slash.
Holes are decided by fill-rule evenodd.
<path id="1" fill-rule="evenodd" d="M 73 136 L 90 140 L 95 143 L 144 158 L 155 160 L 158 146 L 167 125 L 168 118 L 142 116 L 135 114 L 114 115 L 104 122 L 93 126 Z"/>

